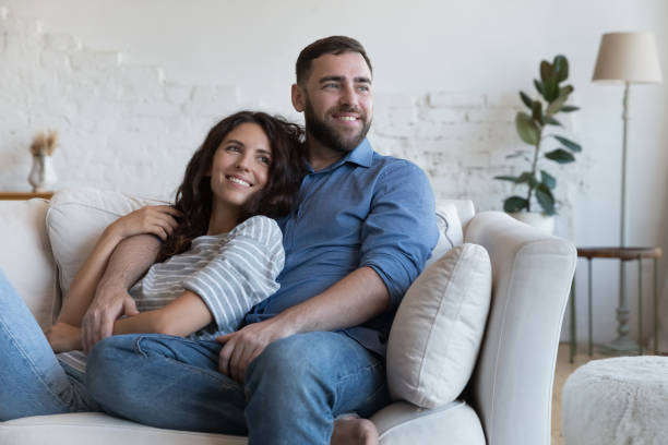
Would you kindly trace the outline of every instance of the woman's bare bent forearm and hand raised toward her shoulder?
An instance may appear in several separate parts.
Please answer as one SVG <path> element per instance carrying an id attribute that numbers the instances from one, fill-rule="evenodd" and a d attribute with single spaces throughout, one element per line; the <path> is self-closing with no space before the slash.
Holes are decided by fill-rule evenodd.
<path id="1" fill-rule="evenodd" d="M 72 281 L 63 299 L 58 323 L 81 325 L 109 256 L 123 239 L 139 233 L 153 233 L 165 240 L 178 226 L 175 218 L 179 215 L 178 211 L 166 205 L 147 206 L 109 225 Z"/>

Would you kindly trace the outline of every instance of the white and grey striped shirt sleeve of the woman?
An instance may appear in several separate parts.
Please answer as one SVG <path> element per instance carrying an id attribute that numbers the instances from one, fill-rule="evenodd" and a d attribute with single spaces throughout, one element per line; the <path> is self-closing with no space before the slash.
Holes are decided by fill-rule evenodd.
<path id="1" fill-rule="evenodd" d="M 213 314 L 217 332 L 239 328 L 243 315 L 278 290 L 283 269 L 283 234 L 276 221 L 253 216 L 228 234 L 218 254 L 183 282 Z"/>

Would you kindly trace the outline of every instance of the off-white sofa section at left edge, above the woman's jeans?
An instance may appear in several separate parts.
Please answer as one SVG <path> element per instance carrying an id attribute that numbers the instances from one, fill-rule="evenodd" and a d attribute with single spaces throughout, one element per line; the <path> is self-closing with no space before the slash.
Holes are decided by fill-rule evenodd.
<path id="1" fill-rule="evenodd" d="M 56 266 L 44 200 L 0 201 L 0 269 L 45 328 L 58 309 Z"/>

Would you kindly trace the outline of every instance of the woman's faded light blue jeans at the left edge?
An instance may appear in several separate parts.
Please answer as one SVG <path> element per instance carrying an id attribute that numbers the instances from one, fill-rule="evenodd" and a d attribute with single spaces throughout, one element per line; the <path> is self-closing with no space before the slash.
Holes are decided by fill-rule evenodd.
<path id="1" fill-rule="evenodd" d="M 0 270 L 0 421 L 96 410 L 84 375 L 60 364 L 35 317 Z"/>

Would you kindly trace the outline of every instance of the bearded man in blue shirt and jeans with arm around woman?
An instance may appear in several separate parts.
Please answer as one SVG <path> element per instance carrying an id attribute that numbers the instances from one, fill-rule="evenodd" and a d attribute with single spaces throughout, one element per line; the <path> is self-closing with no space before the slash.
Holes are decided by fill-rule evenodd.
<path id="1" fill-rule="evenodd" d="M 108 412 L 163 428 L 248 432 L 250 444 L 378 441 L 369 421 L 335 419 L 368 417 L 389 401 L 385 344 L 438 239 L 433 195 L 418 167 L 375 154 L 366 140 L 372 72 L 357 40 L 318 40 L 296 68 L 293 105 L 305 113 L 310 173 L 279 221 L 279 291 L 220 337 L 222 347 L 159 335 L 98 342 L 87 385 Z M 155 251 L 145 237 L 115 252 L 84 317 L 86 347 L 132 311 L 127 288 Z"/>

